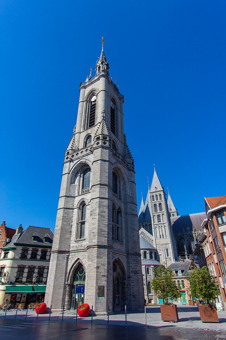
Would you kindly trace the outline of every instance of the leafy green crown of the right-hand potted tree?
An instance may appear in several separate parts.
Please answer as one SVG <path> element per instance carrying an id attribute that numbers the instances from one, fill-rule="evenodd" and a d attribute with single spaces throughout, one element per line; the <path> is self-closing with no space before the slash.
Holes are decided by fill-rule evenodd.
<path id="1" fill-rule="evenodd" d="M 187 274 L 190 282 L 191 295 L 202 299 L 204 303 L 210 304 L 215 300 L 216 295 L 220 295 L 219 285 L 216 285 L 215 278 L 212 276 L 206 266 L 198 269 L 195 268 L 190 274 Z"/>

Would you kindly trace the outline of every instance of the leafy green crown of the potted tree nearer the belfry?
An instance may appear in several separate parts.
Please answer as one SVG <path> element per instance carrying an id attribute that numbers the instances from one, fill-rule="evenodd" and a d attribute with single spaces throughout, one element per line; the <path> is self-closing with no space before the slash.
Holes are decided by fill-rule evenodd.
<path id="1" fill-rule="evenodd" d="M 171 269 L 163 266 L 154 268 L 155 277 L 152 280 L 152 288 L 159 299 L 169 305 L 169 300 L 176 300 L 181 296 L 180 288 L 173 281 L 174 274 Z"/>

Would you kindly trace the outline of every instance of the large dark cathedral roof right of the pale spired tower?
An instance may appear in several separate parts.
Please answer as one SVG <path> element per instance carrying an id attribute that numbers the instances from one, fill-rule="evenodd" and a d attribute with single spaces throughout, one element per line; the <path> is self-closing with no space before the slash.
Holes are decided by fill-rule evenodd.
<path id="1" fill-rule="evenodd" d="M 205 218 L 206 218 L 205 212 L 171 217 L 170 220 L 173 228 L 173 233 L 176 234 L 178 232 L 182 232 L 183 229 L 184 231 L 189 230 L 190 232 L 192 232 L 192 225 L 196 231 L 203 230 L 201 224 Z"/>

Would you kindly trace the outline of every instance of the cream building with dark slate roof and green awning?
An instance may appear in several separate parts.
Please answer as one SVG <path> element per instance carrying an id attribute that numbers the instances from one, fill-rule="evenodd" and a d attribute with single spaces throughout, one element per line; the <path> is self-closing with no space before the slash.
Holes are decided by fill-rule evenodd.
<path id="1" fill-rule="evenodd" d="M 16 229 L 0 258 L 0 305 L 44 299 L 53 233 L 49 228 Z"/>

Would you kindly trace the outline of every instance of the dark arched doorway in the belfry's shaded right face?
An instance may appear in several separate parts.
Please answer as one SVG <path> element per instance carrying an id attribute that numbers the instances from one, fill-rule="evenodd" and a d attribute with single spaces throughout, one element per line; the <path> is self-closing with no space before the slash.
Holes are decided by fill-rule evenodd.
<path id="1" fill-rule="evenodd" d="M 126 284 L 126 271 L 123 263 L 117 258 L 114 260 L 113 265 L 113 296 L 112 308 L 113 311 L 123 310 L 127 304 L 127 284 Z"/>

